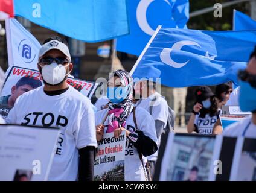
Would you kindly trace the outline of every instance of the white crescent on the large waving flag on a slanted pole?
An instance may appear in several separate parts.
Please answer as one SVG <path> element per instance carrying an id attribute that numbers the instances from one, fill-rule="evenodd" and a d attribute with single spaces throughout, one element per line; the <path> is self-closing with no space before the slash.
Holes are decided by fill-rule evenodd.
<path id="1" fill-rule="evenodd" d="M 188 41 L 188 40 L 179 41 L 179 42 L 174 43 L 171 48 L 162 49 L 162 52 L 160 54 L 160 59 L 162 60 L 163 63 L 165 63 L 166 65 L 169 65 L 173 68 L 182 68 L 183 66 L 187 65 L 187 63 L 190 60 L 187 60 L 187 62 L 184 62 L 184 63 L 175 62 L 173 59 L 171 59 L 171 52 L 173 51 L 173 49 L 181 50 L 181 48 L 185 45 L 195 45 L 195 46 L 199 46 L 201 48 L 201 46 L 196 42 L 192 42 L 192 41 Z"/>

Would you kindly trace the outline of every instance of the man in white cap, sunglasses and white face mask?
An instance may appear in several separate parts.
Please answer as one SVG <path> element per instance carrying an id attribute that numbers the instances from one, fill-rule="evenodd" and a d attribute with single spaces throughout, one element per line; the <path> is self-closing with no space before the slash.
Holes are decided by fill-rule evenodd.
<path id="1" fill-rule="evenodd" d="M 45 84 L 19 96 L 6 119 L 12 124 L 60 128 L 48 180 L 93 179 L 97 147 L 94 111 L 91 101 L 66 83 L 72 68 L 66 40 L 45 40 L 38 59 Z"/>

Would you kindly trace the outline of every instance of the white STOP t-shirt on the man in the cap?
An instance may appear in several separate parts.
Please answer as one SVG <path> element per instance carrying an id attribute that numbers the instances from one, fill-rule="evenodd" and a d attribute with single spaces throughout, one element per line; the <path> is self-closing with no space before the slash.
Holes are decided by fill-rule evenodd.
<path id="1" fill-rule="evenodd" d="M 5 121 L 60 128 L 48 180 L 77 180 L 78 149 L 97 147 L 91 101 L 71 86 L 55 96 L 46 95 L 43 86 L 24 93 L 16 100 Z"/>

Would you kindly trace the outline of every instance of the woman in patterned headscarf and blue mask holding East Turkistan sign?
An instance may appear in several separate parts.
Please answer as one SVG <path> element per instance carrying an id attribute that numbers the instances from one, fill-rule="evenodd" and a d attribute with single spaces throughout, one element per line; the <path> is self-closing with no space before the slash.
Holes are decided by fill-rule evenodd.
<path id="1" fill-rule="evenodd" d="M 104 133 L 114 133 L 117 138 L 125 131 L 124 179 L 144 181 L 147 179 L 146 157 L 158 150 L 155 122 L 146 110 L 135 108 L 132 102 L 133 81 L 128 72 L 117 70 L 110 74 L 107 97 L 110 100 L 108 108 L 95 113 L 97 141 L 103 138 Z M 107 113 L 109 115 L 104 121 Z"/>

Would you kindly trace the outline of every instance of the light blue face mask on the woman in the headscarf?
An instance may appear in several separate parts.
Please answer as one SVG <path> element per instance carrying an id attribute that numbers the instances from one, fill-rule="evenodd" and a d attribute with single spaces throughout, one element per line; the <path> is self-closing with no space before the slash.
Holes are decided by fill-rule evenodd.
<path id="1" fill-rule="evenodd" d="M 107 98 L 112 103 L 121 103 L 128 96 L 129 84 L 125 87 L 107 87 Z"/>

